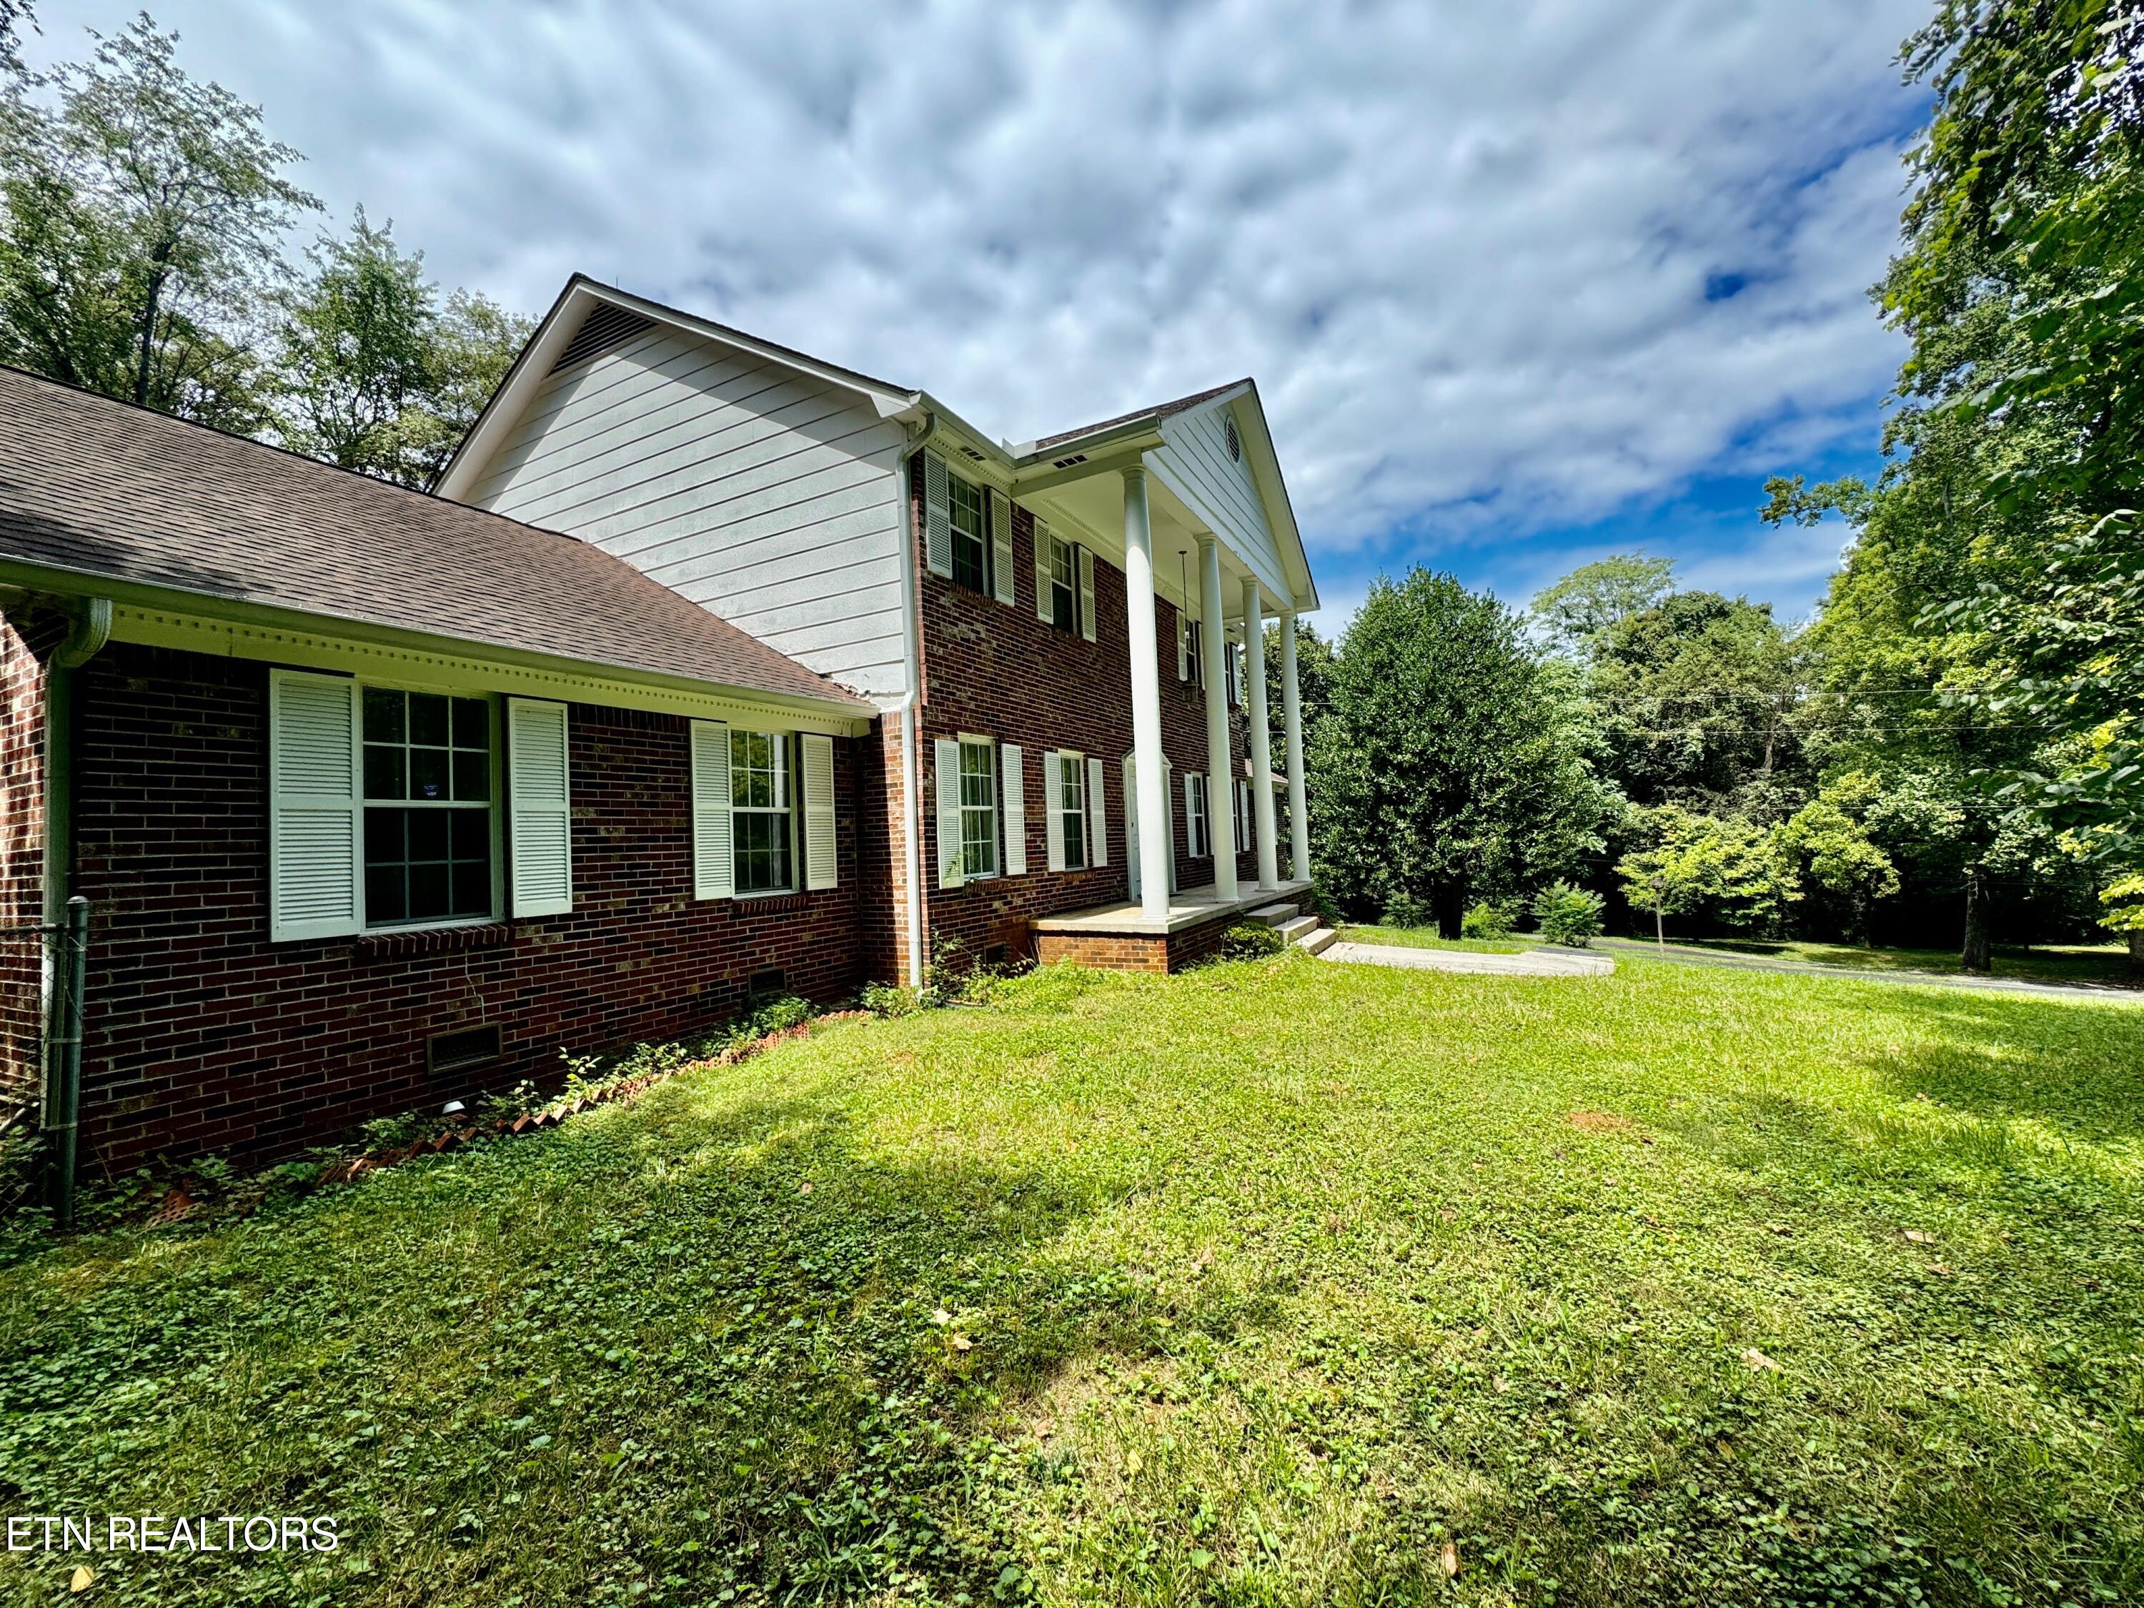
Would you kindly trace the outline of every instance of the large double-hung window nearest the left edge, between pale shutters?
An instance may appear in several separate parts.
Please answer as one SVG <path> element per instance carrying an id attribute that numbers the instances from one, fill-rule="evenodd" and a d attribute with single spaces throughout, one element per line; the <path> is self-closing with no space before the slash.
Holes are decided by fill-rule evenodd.
<path id="1" fill-rule="evenodd" d="M 491 699 L 367 686 L 360 723 L 364 924 L 497 915 Z"/>

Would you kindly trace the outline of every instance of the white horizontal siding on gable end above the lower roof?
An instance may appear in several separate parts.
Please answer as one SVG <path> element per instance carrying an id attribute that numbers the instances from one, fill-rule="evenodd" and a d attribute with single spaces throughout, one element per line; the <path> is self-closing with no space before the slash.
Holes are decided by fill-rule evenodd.
<path id="1" fill-rule="evenodd" d="M 855 392 L 656 328 L 547 379 L 470 502 L 594 542 L 821 675 L 898 695 L 903 446 Z"/>

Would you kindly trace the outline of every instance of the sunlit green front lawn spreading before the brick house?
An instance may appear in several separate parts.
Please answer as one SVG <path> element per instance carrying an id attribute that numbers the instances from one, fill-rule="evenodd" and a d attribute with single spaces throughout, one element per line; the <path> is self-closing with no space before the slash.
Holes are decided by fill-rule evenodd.
<path id="1" fill-rule="evenodd" d="M 88 1602 L 2135 1602 L 2140 1029 L 1040 973 L 0 1269 L 0 1494 L 347 1537 Z"/>

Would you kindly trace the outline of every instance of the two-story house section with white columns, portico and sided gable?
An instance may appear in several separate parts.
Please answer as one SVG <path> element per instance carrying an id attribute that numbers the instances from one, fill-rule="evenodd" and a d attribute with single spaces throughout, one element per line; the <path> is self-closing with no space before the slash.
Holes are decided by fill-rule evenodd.
<path id="1" fill-rule="evenodd" d="M 440 491 L 602 547 L 870 699 L 881 976 L 948 937 L 1181 965 L 1304 888 L 1293 662 L 1284 795 L 1246 733 L 1269 718 L 1263 622 L 1316 590 L 1250 379 L 1014 446 L 926 390 L 575 279 Z"/>

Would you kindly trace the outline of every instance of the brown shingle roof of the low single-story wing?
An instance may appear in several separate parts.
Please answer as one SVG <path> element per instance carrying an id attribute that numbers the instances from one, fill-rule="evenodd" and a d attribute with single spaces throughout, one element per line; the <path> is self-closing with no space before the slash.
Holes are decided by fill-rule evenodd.
<path id="1" fill-rule="evenodd" d="M 572 536 L 4 367 L 0 560 L 870 708 Z"/>

